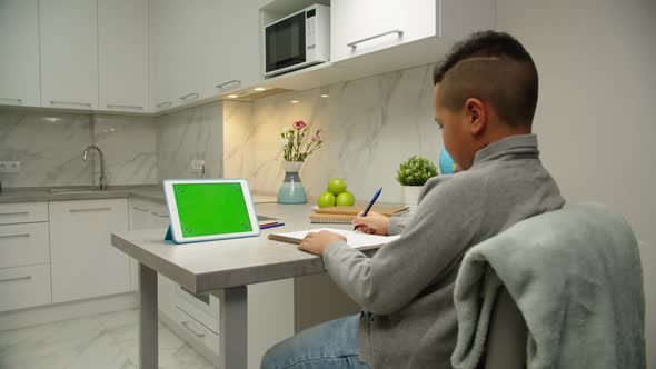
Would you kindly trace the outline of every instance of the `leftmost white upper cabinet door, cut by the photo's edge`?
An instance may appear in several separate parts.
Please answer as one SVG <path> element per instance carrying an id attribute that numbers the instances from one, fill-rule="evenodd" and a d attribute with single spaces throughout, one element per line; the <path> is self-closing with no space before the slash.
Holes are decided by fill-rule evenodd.
<path id="1" fill-rule="evenodd" d="M 38 0 L 0 0 L 0 104 L 41 106 Z"/>

